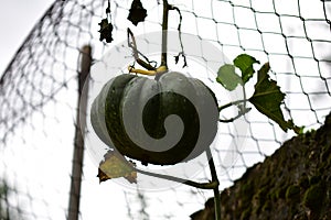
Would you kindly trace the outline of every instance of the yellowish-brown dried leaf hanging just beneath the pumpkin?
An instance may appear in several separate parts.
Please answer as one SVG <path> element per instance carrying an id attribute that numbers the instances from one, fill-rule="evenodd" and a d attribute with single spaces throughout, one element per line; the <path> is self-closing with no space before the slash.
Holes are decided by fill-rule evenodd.
<path id="1" fill-rule="evenodd" d="M 137 184 L 136 164 L 128 162 L 122 155 L 115 151 L 108 151 L 104 155 L 104 161 L 99 164 L 98 175 L 99 182 L 106 182 L 111 178 L 126 178 L 130 184 Z"/>

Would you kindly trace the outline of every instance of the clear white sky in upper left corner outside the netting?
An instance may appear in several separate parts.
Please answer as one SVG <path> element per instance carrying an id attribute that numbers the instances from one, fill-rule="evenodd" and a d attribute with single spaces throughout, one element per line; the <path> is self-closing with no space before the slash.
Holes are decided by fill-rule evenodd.
<path id="1" fill-rule="evenodd" d="M 0 73 L 54 0 L 0 0 Z"/>

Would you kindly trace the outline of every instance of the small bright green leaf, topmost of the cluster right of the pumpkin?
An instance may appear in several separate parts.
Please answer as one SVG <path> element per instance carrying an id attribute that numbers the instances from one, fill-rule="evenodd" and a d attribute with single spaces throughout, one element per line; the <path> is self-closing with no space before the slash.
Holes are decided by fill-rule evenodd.
<path id="1" fill-rule="evenodd" d="M 247 54 L 241 54 L 233 61 L 233 63 L 241 69 L 242 80 L 246 84 L 255 73 L 253 65 L 259 64 L 259 61 Z"/>

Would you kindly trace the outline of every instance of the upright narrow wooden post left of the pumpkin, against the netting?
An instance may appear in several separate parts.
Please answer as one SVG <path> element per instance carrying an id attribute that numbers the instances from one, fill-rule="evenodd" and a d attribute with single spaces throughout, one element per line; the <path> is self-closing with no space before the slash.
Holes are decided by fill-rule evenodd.
<path id="1" fill-rule="evenodd" d="M 79 114 L 83 116 L 87 111 L 87 91 L 84 92 L 84 82 L 89 74 L 92 64 L 92 47 L 89 45 L 83 46 L 81 51 L 81 69 L 78 72 L 78 103 L 77 103 L 77 114 L 76 114 L 76 131 L 74 140 L 74 154 L 73 154 L 73 168 L 72 168 L 72 182 L 70 191 L 70 204 L 68 204 L 68 220 L 78 220 L 79 216 L 79 199 L 81 199 L 81 185 L 82 185 L 82 174 L 83 174 L 83 161 L 84 161 L 84 136 L 81 129 Z M 82 121 L 83 124 L 85 122 Z"/>

